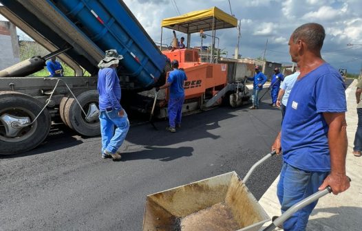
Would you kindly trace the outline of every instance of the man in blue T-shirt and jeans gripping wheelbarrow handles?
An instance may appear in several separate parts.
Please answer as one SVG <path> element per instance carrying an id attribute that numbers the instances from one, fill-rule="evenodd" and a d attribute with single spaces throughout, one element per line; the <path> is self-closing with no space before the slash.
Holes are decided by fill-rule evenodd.
<path id="1" fill-rule="evenodd" d="M 306 23 L 290 36 L 289 52 L 300 74 L 290 91 L 286 114 L 272 150 L 283 151 L 277 186 L 281 212 L 330 186 L 335 195 L 350 187 L 345 175 L 347 134 L 345 85 L 341 74 L 321 58 L 326 33 Z M 306 230 L 317 202 L 292 214 L 284 230 Z"/>

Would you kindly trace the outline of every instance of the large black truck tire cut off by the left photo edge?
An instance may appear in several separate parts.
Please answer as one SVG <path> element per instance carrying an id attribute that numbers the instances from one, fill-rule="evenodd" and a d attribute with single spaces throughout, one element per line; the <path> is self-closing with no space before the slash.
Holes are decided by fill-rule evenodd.
<path id="1" fill-rule="evenodd" d="M 32 96 L 14 91 L 0 91 L 0 116 L 8 114 L 28 117 L 34 121 L 43 107 L 44 105 Z M 8 137 L 0 120 L 0 155 L 17 154 L 35 148 L 45 140 L 51 124 L 50 113 L 45 108 L 33 124 L 21 129 L 16 137 Z"/>

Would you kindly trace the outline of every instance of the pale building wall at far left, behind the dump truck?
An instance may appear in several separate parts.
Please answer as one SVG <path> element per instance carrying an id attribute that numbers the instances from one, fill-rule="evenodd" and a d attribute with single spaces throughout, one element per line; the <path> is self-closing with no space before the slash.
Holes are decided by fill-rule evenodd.
<path id="1" fill-rule="evenodd" d="M 0 70 L 19 61 L 17 28 L 9 21 L 0 21 Z"/>

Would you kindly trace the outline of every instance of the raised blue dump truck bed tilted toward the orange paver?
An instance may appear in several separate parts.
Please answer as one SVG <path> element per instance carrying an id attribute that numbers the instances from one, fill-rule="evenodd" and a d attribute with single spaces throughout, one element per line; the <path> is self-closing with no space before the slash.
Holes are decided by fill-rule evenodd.
<path id="1" fill-rule="evenodd" d="M 142 89 L 157 82 L 167 58 L 123 1 L 0 0 L 12 23 L 32 28 L 43 43 L 72 46 L 66 55 L 92 75 L 105 50 L 123 55 L 118 74 L 123 88 Z M 31 34 L 30 34 L 31 36 Z M 38 40 L 39 41 L 39 40 Z"/>

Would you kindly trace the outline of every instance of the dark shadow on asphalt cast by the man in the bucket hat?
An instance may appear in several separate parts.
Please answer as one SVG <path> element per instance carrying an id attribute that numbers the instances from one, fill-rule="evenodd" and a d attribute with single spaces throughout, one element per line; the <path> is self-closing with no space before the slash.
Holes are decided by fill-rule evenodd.
<path id="1" fill-rule="evenodd" d="M 122 153 L 121 161 L 136 159 L 158 159 L 162 162 L 169 162 L 180 157 L 190 157 L 193 152 L 192 147 L 182 146 L 179 148 L 159 148 L 145 146 L 145 150 L 132 153 Z"/>

